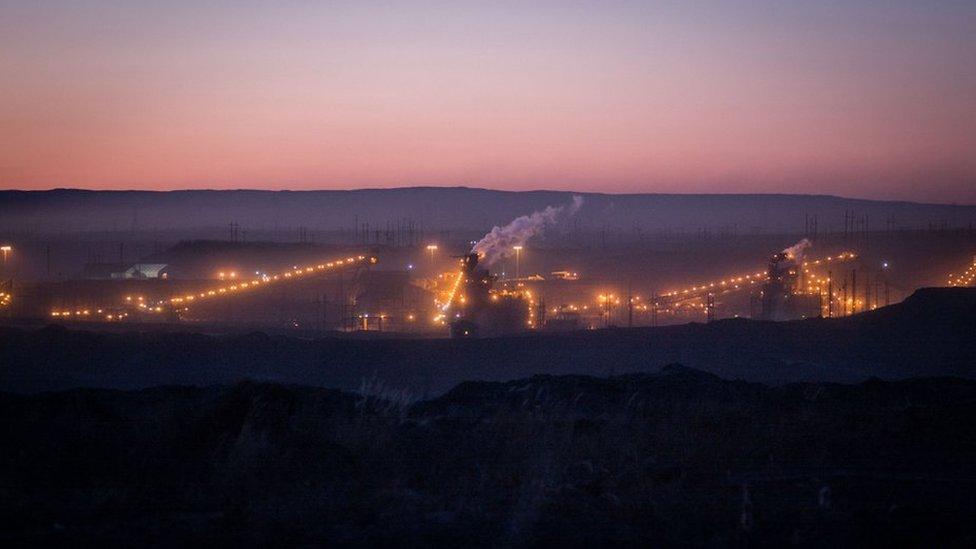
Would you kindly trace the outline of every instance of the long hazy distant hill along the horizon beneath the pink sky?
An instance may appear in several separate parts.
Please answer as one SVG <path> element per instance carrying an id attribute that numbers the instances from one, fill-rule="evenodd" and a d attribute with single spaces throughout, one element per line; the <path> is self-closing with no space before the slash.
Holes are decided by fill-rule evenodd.
<path id="1" fill-rule="evenodd" d="M 845 214 L 867 227 L 963 227 L 976 223 L 976 206 L 856 200 L 814 195 L 597 194 L 507 192 L 415 187 L 352 191 L 0 191 L 0 231 L 165 230 L 226 227 L 250 231 L 305 226 L 353 230 L 356 222 L 383 230 L 409 218 L 416 228 L 485 230 L 546 206 L 585 198 L 577 228 L 640 228 L 794 232 L 807 216 L 821 231 L 842 230 Z"/>

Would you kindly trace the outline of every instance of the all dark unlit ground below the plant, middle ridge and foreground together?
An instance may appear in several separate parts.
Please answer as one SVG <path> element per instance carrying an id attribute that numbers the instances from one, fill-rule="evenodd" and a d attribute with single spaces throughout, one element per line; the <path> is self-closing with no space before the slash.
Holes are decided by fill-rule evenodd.
<path id="1" fill-rule="evenodd" d="M 463 341 L 2 328 L 0 391 L 3 546 L 976 544 L 972 289 Z"/>

